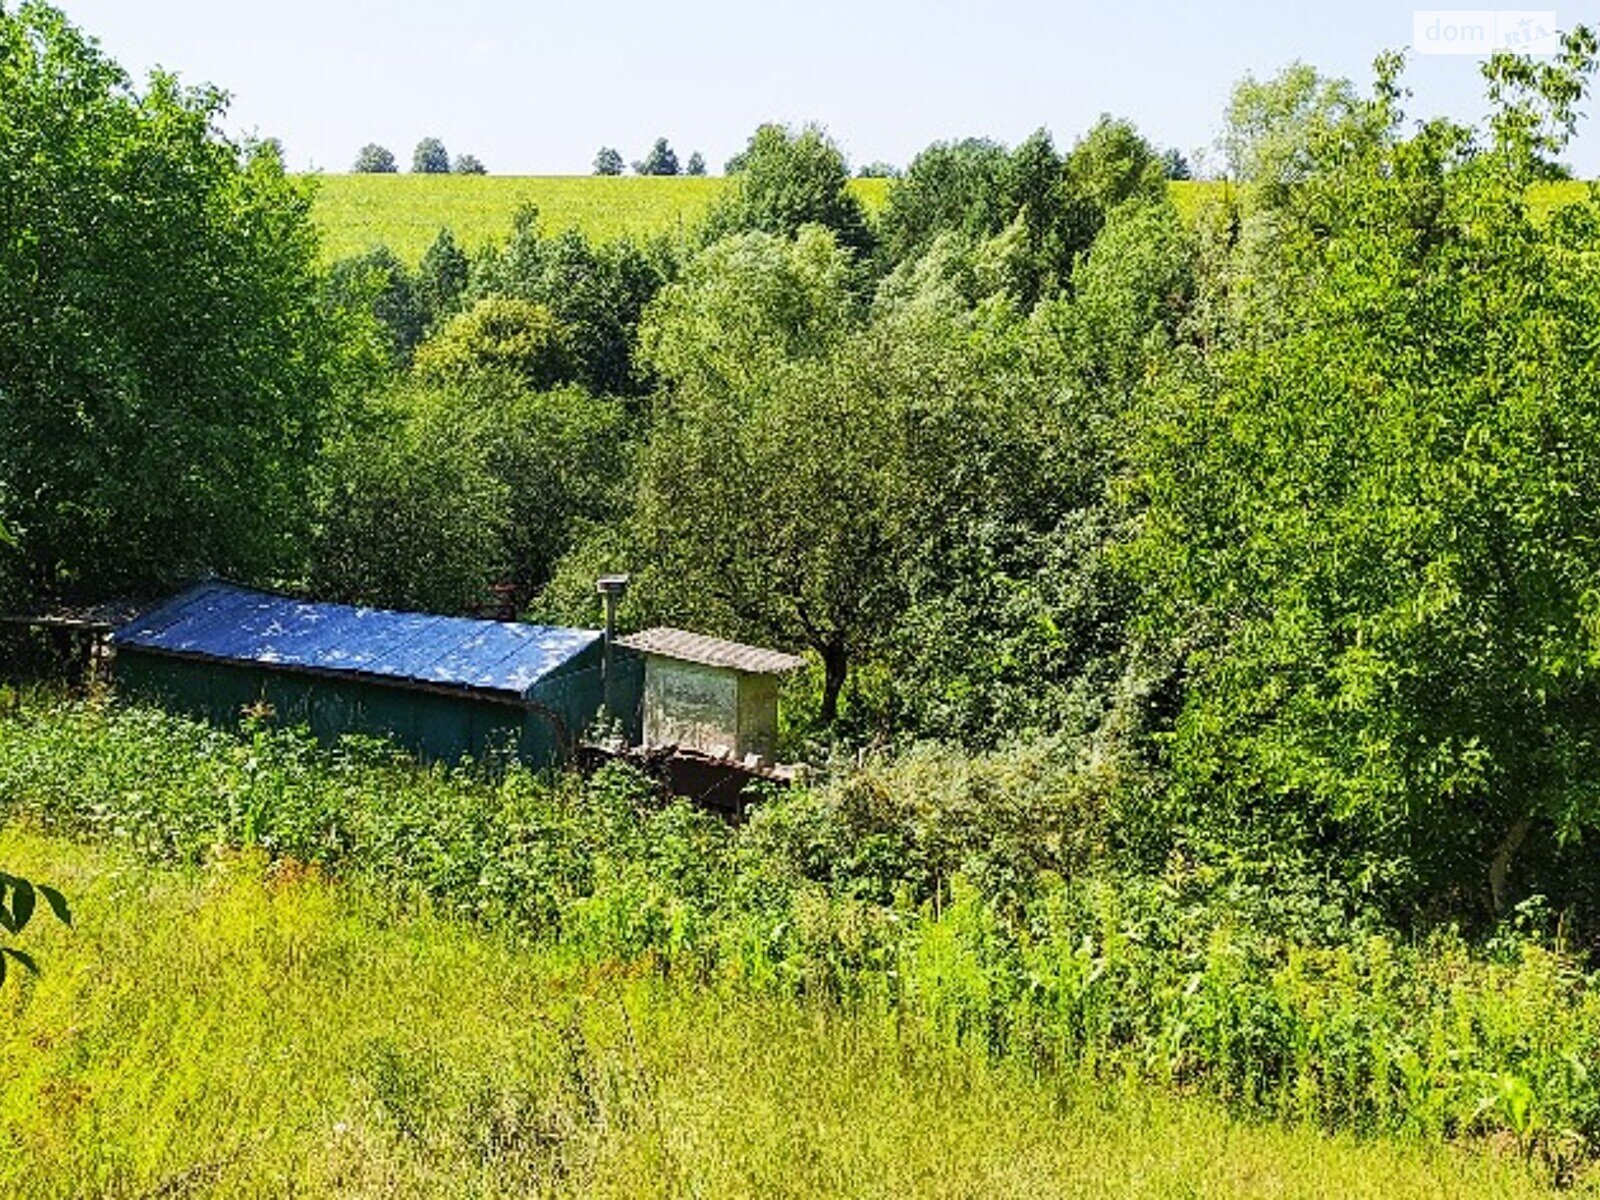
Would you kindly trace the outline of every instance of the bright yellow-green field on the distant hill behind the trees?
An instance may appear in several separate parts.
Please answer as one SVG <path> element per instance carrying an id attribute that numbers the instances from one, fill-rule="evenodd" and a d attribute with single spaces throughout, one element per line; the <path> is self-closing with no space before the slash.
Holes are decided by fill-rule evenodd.
<path id="1" fill-rule="evenodd" d="M 315 219 L 328 261 L 387 245 L 416 262 L 443 227 L 472 250 L 504 238 L 523 203 L 538 205 L 550 232 L 576 226 L 598 238 L 674 234 L 704 216 L 723 187 L 720 178 L 325 174 L 317 178 Z M 877 211 L 890 181 L 856 179 L 851 187 L 869 211 Z M 1173 200 L 1189 216 L 1226 187 L 1173 184 Z M 1584 187 L 1542 184 L 1531 200 L 1534 208 L 1549 210 L 1581 198 Z"/>

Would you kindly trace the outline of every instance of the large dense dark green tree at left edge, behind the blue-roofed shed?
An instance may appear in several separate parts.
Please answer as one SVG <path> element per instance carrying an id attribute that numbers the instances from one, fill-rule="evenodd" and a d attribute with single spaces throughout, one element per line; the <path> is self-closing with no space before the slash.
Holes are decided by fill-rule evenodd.
<path id="1" fill-rule="evenodd" d="M 0 13 L 0 590 L 150 592 L 298 554 L 330 416 L 310 189 L 141 91 L 56 10 Z"/>

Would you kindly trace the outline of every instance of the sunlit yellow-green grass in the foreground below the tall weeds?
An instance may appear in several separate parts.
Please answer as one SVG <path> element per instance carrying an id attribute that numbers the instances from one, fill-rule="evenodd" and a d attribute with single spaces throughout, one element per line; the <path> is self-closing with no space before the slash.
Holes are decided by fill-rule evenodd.
<path id="1" fill-rule="evenodd" d="M 1538 1195 L 1504 1158 L 1051 1086 L 910 1029 L 579 973 L 234 859 L 18 830 L 77 928 L 0 992 L 0 1192 Z"/>

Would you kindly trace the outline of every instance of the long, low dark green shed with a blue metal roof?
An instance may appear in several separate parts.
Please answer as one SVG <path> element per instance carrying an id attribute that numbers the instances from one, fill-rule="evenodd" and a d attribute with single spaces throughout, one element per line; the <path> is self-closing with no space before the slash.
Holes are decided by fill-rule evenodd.
<path id="1" fill-rule="evenodd" d="M 600 709 L 602 635 L 584 629 L 310 603 L 224 582 L 112 637 L 133 694 L 221 723 L 266 704 L 326 741 L 394 738 L 422 758 L 510 750 L 565 762 Z"/>

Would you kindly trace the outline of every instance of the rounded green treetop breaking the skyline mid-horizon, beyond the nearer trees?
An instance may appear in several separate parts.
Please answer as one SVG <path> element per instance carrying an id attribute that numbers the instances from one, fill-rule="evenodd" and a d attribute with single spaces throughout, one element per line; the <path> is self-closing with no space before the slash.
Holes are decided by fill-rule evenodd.
<path id="1" fill-rule="evenodd" d="M 861 202 L 850 190 L 850 170 L 827 134 L 763 125 L 741 155 L 730 190 L 707 218 L 704 238 L 760 229 L 794 235 L 814 224 L 834 230 L 842 246 L 866 253 L 874 245 Z"/>

